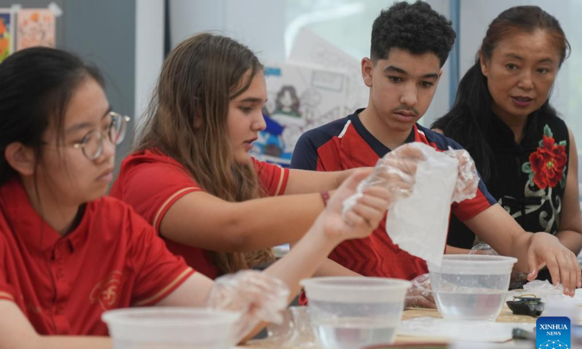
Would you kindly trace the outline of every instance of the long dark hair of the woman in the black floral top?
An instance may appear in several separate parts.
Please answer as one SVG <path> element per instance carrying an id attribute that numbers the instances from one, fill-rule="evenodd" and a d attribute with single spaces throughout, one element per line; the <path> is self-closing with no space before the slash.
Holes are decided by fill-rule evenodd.
<path id="1" fill-rule="evenodd" d="M 480 51 L 485 60 L 491 59 L 495 47 L 503 38 L 512 33 L 533 33 L 535 30 L 544 30 L 551 35 L 552 41 L 558 47 L 561 66 L 570 52 L 570 44 L 558 20 L 538 6 L 516 6 L 500 13 L 489 24 Z M 493 161 L 491 147 L 485 138 L 495 117 L 492 104 L 487 77 L 481 72 L 481 60 L 477 55 L 475 64 L 467 70 L 459 83 L 453 108 L 431 126 L 443 130 L 445 136 L 453 138 L 470 152 L 485 181 L 493 172 L 490 165 Z M 541 117 L 556 116 L 555 109 L 549 104 L 549 98 L 535 113 Z"/>

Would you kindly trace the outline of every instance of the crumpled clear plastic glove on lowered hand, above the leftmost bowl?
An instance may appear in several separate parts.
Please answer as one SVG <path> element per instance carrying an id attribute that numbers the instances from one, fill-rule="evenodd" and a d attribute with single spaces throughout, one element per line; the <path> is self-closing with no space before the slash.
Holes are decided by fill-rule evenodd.
<path id="1" fill-rule="evenodd" d="M 236 329 L 236 342 L 261 321 L 281 323 L 289 289 L 276 277 L 256 270 L 241 270 L 215 280 L 208 294 L 207 307 L 242 313 Z"/>

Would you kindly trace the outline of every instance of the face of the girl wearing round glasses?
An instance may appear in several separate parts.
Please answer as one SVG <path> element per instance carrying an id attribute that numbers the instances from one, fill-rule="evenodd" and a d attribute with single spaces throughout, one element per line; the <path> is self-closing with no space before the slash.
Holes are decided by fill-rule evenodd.
<path id="1" fill-rule="evenodd" d="M 54 200 L 66 205 L 80 205 L 95 200 L 107 191 L 113 179 L 115 146 L 106 136 L 111 123 L 109 102 L 100 84 L 94 79 L 82 81 L 66 107 L 62 142 L 54 124 L 43 135 L 42 160 L 37 168 L 41 193 L 51 193 Z M 89 160 L 82 148 L 74 148 L 93 130 L 102 131 L 101 155 Z"/>

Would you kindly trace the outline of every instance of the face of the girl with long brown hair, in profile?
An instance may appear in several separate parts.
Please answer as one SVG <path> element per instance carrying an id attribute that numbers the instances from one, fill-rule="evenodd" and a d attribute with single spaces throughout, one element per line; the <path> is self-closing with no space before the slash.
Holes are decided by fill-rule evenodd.
<path id="1" fill-rule="evenodd" d="M 250 73 L 243 76 L 247 81 Z M 267 101 L 267 86 L 262 71 L 257 72 L 249 88 L 228 104 L 226 129 L 233 156 L 237 163 L 250 161 L 249 151 L 257 140 L 258 132 L 267 127 L 262 106 Z"/>

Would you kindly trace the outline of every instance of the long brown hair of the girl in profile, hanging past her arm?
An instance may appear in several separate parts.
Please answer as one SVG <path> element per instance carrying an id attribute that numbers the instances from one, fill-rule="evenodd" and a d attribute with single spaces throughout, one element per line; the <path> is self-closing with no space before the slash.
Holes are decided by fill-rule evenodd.
<path id="1" fill-rule="evenodd" d="M 230 202 L 264 195 L 252 163 L 236 163 L 226 129 L 231 99 L 262 69 L 257 56 L 221 35 L 194 35 L 162 66 L 138 150 L 157 148 L 178 161 L 207 193 Z M 272 259 L 272 251 L 214 252 L 222 272 Z"/>

